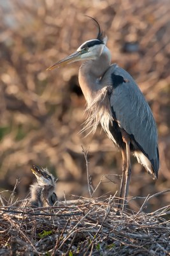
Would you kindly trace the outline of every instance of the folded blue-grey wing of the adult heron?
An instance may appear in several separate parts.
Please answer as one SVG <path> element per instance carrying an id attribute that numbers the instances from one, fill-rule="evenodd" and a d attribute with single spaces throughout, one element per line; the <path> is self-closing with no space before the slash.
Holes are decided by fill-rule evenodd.
<path id="1" fill-rule="evenodd" d="M 117 65 L 112 65 L 110 68 L 113 86 L 110 97 L 111 109 L 120 127 L 134 137 L 157 172 L 159 170 L 157 127 L 150 106 L 129 73 Z"/>

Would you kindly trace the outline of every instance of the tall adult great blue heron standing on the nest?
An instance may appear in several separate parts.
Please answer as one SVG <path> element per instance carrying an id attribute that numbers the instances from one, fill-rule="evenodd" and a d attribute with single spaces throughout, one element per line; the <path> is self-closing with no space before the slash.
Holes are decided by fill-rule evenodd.
<path id="1" fill-rule="evenodd" d="M 111 53 L 106 47 L 107 37 L 101 31 L 97 20 L 90 18 L 96 22 L 99 29 L 97 38 L 84 42 L 76 52 L 47 70 L 74 61 L 85 61 L 78 74 L 89 111 L 84 130 L 91 128 L 91 131 L 95 132 L 97 125 L 101 123 L 108 137 L 122 150 L 120 198 L 125 201 L 131 177 L 130 152 L 143 164 L 153 179 L 158 177 L 157 127 L 152 111 L 134 79 L 117 64 L 111 65 Z M 121 199 L 119 208 L 120 202 Z"/>

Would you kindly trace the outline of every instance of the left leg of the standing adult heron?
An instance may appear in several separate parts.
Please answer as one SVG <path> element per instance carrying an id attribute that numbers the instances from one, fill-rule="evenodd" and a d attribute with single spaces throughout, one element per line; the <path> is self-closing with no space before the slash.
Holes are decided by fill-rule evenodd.
<path id="1" fill-rule="evenodd" d="M 122 180 L 121 180 L 121 185 L 120 185 L 120 195 L 119 195 L 119 200 L 118 200 L 118 209 L 120 209 L 122 205 L 122 198 L 124 197 L 125 193 L 125 171 L 127 169 L 127 160 L 126 160 L 126 150 L 125 148 L 122 149 Z"/>

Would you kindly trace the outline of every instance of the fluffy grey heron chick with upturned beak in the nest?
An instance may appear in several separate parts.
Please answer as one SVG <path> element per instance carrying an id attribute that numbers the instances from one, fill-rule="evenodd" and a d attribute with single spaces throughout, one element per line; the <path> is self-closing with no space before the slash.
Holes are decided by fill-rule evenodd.
<path id="1" fill-rule="evenodd" d="M 29 204 L 32 207 L 43 207 L 47 205 L 53 206 L 57 202 L 55 194 L 55 178 L 47 169 L 39 168 L 33 165 L 32 173 L 36 176 L 37 182 L 31 185 L 31 198 Z"/>

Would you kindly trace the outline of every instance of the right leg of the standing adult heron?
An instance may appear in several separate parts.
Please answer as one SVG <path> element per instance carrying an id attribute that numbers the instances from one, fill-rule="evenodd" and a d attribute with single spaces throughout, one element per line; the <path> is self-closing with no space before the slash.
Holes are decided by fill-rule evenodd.
<path id="1" fill-rule="evenodd" d="M 130 154 L 130 140 L 126 136 L 124 138 L 125 146 L 126 146 L 126 159 L 127 159 L 127 168 L 125 170 L 125 196 L 124 196 L 124 205 L 123 205 L 123 211 L 125 210 L 126 204 L 127 204 L 127 195 L 129 192 L 129 183 L 131 179 L 131 154 Z"/>

